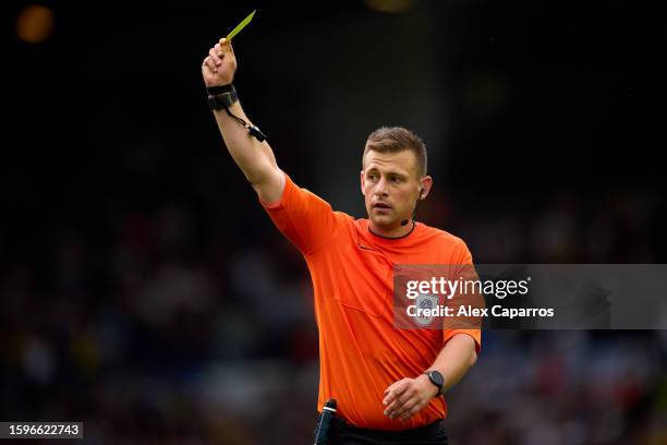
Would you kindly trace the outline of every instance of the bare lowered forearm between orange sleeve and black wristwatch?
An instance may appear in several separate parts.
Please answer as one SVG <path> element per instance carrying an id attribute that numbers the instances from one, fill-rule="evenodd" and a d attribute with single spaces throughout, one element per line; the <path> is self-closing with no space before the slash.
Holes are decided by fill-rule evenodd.
<path id="1" fill-rule="evenodd" d="M 476 360 L 475 340 L 466 334 L 457 334 L 447 341 L 429 370 L 436 370 L 442 374 L 444 390 L 447 390 L 465 375 Z"/>

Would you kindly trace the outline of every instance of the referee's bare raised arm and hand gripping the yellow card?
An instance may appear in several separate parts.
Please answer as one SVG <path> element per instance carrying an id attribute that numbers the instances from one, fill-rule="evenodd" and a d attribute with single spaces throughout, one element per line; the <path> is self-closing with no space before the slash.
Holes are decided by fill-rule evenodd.
<path id="1" fill-rule="evenodd" d="M 210 48 L 208 57 L 202 64 L 204 83 L 207 88 L 229 85 L 234 80 L 235 72 L 237 57 L 231 41 L 220 39 L 220 43 Z M 230 106 L 229 110 L 252 124 L 240 101 Z M 225 109 L 215 110 L 214 115 L 227 149 L 255 192 L 266 203 L 278 202 L 284 190 L 284 175 L 278 168 L 269 144 L 266 141 L 258 142 L 251 136 L 248 131 Z"/>

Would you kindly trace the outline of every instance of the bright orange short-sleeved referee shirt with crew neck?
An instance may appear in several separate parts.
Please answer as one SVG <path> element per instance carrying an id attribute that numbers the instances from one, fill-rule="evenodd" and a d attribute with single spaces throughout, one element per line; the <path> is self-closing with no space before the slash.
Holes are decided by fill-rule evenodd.
<path id="1" fill-rule="evenodd" d="M 381 430 L 416 428 L 445 418 L 445 399 L 436 397 L 412 419 L 391 420 L 383 413 L 383 393 L 396 381 L 422 374 L 454 334 L 472 336 L 478 351 L 481 333 L 397 329 L 392 265 L 472 264 L 465 243 L 421 222 L 407 237 L 378 237 L 368 230 L 367 219 L 333 212 L 288 175 L 280 201 L 262 204 L 311 272 L 319 330 L 318 410 L 335 398 L 347 421 Z"/>

